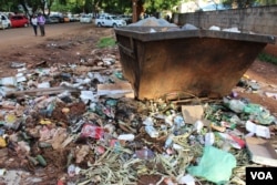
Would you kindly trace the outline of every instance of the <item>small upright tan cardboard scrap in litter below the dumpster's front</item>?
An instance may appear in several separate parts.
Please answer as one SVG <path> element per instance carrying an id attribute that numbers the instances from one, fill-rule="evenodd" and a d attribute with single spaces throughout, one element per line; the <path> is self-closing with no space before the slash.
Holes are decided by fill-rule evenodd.
<path id="1" fill-rule="evenodd" d="M 202 105 L 182 105 L 182 114 L 186 123 L 194 124 L 203 119 L 204 109 Z"/>

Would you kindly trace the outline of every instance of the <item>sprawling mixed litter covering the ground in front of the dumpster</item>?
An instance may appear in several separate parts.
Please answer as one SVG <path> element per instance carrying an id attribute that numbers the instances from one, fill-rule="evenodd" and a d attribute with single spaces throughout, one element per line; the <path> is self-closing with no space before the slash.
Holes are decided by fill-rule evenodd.
<path id="1" fill-rule="evenodd" d="M 0 79 L 0 182 L 22 169 L 33 177 L 14 184 L 245 184 L 247 166 L 277 166 L 266 107 L 235 91 L 138 101 L 114 50 L 75 64 L 12 63 L 18 74 Z M 257 88 L 246 76 L 238 85 Z"/>

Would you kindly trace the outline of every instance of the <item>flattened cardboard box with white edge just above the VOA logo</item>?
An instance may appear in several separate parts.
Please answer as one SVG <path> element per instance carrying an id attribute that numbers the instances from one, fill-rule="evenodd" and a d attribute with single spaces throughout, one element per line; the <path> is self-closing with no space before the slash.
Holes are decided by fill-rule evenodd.
<path id="1" fill-rule="evenodd" d="M 269 141 L 257 137 L 246 137 L 245 141 L 254 163 L 277 167 L 277 153 Z"/>

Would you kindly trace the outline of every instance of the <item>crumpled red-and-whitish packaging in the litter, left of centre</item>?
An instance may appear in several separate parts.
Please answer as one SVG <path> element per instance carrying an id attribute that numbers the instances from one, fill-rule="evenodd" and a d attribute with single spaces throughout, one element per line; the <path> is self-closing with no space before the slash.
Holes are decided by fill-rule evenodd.
<path id="1" fill-rule="evenodd" d="M 103 135 L 104 130 L 102 127 L 89 123 L 85 123 L 81 131 L 81 136 L 84 137 L 92 137 L 99 140 L 103 137 Z"/>

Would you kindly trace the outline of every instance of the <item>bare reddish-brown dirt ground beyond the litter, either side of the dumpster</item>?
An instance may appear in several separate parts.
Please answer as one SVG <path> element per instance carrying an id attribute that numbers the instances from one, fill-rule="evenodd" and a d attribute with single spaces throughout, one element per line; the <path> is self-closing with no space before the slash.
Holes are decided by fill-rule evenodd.
<path id="1" fill-rule="evenodd" d="M 20 42 L 17 39 L 10 39 L 7 44 L 3 44 L 1 40 L 0 78 L 12 76 L 18 73 L 17 69 L 11 66 L 14 62 L 25 63 L 27 68 L 35 68 L 41 64 L 51 66 L 86 60 L 96 50 L 95 43 L 98 40 L 105 35 L 113 35 L 113 30 L 93 25 L 78 25 L 60 33 L 57 33 L 57 31 L 49 32 L 44 38 L 28 35 L 22 37 Z M 277 45 L 267 45 L 264 52 L 277 56 Z M 120 58 L 119 53 L 115 54 Z M 237 91 L 242 97 L 249 99 L 250 102 L 267 107 L 270 113 L 277 116 L 277 97 L 265 95 L 265 92 L 277 93 L 277 65 L 255 60 L 245 75 L 250 80 L 257 81 L 260 85 L 260 91 L 246 92 L 239 88 L 234 88 L 234 91 Z M 52 167 L 59 168 L 59 166 Z M 49 178 L 55 178 L 55 175 L 52 174 L 52 177 L 49 176 Z M 141 184 L 158 179 L 156 176 L 152 176 L 152 178 L 142 177 Z"/>

